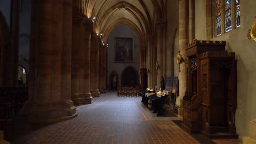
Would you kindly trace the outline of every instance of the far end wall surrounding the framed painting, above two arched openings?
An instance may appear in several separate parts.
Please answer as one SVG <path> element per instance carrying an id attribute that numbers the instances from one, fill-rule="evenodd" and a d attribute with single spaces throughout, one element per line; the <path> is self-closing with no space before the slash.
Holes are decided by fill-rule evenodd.
<path id="1" fill-rule="evenodd" d="M 115 63 L 114 62 L 114 37 L 115 36 L 129 36 L 133 37 L 133 63 Z M 119 25 L 114 28 L 108 36 L 108 47 L 107 47 L 107 87 L 109 87 L 109 75 L 112 71 L 116 71 L 119 76 L 119 86 L 121 83 L 121 73 L 127 66 L 134 67 L 139 72 L 139 39 L 138 35 L 130 26 L 125 24 Z"/>

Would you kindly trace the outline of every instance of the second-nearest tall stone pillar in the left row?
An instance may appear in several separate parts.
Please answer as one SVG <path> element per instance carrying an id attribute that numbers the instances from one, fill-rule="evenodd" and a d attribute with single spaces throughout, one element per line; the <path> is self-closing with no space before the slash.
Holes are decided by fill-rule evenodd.
<path id="1" fill-rule="evenodd" d="M 81 1 L 73 1 L 73 32 L 72 32 L 72 75 L 71 75 L 71 98 L 74 104 L 90 104 L 90 31 L 92 21 L 85 17 L 80 10 Z M 88 59 L 89 58 L 89 59 Z"/>

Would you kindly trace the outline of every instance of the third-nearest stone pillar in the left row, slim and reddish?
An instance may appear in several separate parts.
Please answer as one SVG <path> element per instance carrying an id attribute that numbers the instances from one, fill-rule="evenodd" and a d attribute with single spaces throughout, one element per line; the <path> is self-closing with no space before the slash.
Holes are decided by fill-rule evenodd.
<path id="1" fill-rule="evenodd" d="M 98 90 L 98 49 L 100 47 L 100 37 L 95 33 L 91 34 L 91 79 L 90 92 L 92 97 L 100 97 Z"/>

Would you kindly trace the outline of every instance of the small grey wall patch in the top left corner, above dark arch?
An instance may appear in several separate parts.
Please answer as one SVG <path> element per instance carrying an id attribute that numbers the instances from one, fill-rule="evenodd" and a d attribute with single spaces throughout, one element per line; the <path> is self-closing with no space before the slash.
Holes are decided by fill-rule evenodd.
<path id="1" fill-rule="evenodd" d="M 10 28 L 10 7 L 11 7 L 11 1 L 0 1 L 0 11 L 5 17 L 5 20 L 8 23 L 8 26 Z"/>

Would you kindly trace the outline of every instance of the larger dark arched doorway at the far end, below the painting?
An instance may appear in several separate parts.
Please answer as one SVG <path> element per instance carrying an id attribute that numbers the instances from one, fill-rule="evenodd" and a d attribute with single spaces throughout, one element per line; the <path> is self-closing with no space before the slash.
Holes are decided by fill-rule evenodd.
<path id="1" fill-rule="evenodd" d="M 122 86 L 137 86 L 138 85 L 138 71 L 132 66 L 126 67 L 121 74 Z"/>

